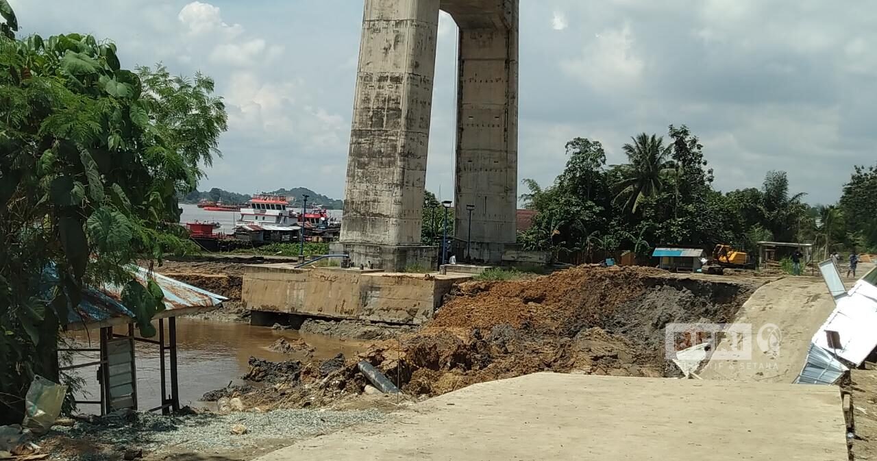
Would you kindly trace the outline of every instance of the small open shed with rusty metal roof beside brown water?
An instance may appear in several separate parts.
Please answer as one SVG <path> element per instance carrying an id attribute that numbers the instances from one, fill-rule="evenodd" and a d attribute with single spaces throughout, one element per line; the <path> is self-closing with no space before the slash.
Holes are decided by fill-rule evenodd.
<path id="1" fill-rule="evenodd" d="M 99 352 L 96 361 L 61 366 L 66 371 L 76 368 L 97 367 L 97 379 L 101 387 L 99 401 L 76 401 L 82 404 L 100 405 L 101 415 L 125 408 L 138 409 L 137 366 L 134 343 L 153 344 L 159 349 L 160 358 L 160 405 L 149 411 L 169 413 L 180 409 L 177 379 L 176 317 L 217 309 L 227 298 L 198 287 L 192 287 L 143 267 L 133 270 L 134 278 L 146 286 L 155 280 L 164 293 L 165 309 L 153 320 L 158 325 L 157 339 L 138 337 L 134 334 L 134 314 L 121 301 L 122 287 L 105 286 L 100 289 L 86 288 L 77 309 L 68 312 L 67 330 L 98 330 L 98 348 L 69 348 L 69 352 Z M 115 328 L 114 328 L 115 327 Z M 119 333 L 123 330 L 123 333 Z M 168 376 L 169 375 L 169 376 Z M 169 381 L 168 381 L 169 377 Z M 169 384 L 169 392 L 168 392 Z"/>

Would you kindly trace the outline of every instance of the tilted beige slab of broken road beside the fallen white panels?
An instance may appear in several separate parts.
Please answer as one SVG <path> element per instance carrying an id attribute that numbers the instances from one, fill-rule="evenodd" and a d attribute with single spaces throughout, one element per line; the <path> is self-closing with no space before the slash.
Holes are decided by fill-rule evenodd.
<path id="1" fill-rule="evenodd" d="M 871 268 L 860 265 L 859 276 Z M 856 280 L 845 281 L 852 287 Z M 791 383 L 807 360 L 810 340 L 834 308 L 821 277 L 787 277 L 760 287 L 735 319 L 752 324 L 752 359 L 712 360 L 699 374 L 703 379 Z M 726 337 L 717 350 L 728 351 L 731 341 Z"/>

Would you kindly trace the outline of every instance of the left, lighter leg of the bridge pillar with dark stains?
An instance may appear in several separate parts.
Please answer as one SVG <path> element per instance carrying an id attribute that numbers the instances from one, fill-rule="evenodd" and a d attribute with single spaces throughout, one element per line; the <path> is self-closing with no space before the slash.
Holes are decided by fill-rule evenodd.
<path id="1" fill-rule="evenodd" d="M 421 245 L 439 0 L 366 0 L 341 242 L 354 264 L 431 265 Z"/>

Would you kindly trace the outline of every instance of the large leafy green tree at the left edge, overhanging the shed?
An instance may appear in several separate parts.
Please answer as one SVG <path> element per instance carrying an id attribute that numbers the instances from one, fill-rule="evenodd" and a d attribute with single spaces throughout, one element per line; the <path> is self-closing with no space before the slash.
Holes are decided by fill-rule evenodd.
<path id="1" fill-rule="evenodd" d="M 14 31 L 7 7 L 0 13 Z M 4 423 L 20 421 L 34 374 L 58 377 L 59 329 L 84 287 L 123 287 L 141 335 L 153 335 L 162 294 L 130 267 L 186 248 L 182 228 L 168 223 L 178 219 L 177 195 L 194 190 L 199 163 L 218 153 L 226 116 L 206 80 L 187 89 L 162 71 L 125 70 L 114 44 L 89 35 L 5 34 L 0 67 Z"/>

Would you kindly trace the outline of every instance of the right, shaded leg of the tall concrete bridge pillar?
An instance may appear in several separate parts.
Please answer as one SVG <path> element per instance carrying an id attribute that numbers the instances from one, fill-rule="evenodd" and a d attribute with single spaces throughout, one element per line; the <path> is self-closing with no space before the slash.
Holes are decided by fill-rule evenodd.
<path id="1" fill-rule="evenodd" d="M 497 263 L 517 239 L 518 0 L 443 0 L 460 27 L 455 233 L 466 257 Z"/>

